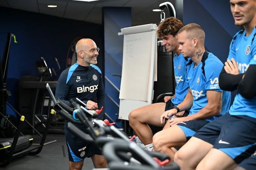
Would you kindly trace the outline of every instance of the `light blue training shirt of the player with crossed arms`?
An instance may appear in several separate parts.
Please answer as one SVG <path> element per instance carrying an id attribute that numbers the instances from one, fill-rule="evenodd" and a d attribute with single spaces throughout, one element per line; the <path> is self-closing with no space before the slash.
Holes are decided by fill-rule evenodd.
<path id="1" fill-rule="evenodd" d="M 234 35 L 230 44 L 228 60 L 234 58 L 240 73 L 246 72 L 250 64 L 256 64 L 256 28 L 249 36 L 241 30 Z M 244 115 L 256 118 L 256 97 L 246 99 L 236 94 L 234 102 L 229 110 L 230 115 Z"/>

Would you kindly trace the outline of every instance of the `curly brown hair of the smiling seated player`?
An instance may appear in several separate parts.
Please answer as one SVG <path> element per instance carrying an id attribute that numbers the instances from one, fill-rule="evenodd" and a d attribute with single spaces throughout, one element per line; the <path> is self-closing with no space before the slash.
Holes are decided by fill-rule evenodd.
<path id="1" fill-rule="evenodd" d="M 167 36 L 169 34 L 176 36 L 180 28 L 182 28 L 184 25 L 182 21 L 175 17 L 169 17 L 166 18 L 163 22 L 161 22 L 156 30 L 156 35 L 158 38 L 161 36 Z"/>

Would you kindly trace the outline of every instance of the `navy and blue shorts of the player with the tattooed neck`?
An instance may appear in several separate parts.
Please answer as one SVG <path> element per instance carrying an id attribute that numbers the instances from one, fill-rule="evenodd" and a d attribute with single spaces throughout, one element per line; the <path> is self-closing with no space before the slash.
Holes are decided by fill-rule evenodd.
<path id="1" fill-rule="evenodd" d="M 200 130 L 207 123 L 209 123 L 209 121 L 206 121 L 206 120 L 190 120 L 190 121 L 184 121 L 184 122 L 178 123 L 177 125 L 184 132 L 184 134 L 186 135 L 187 140 L 189 140 L 195 134 L 195 132 Z"/>

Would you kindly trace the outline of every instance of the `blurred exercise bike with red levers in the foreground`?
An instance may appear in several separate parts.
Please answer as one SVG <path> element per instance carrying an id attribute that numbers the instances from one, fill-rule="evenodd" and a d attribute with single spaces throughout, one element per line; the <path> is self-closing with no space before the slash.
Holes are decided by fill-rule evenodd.
<path id="1" fill-rule="evenodd" d="M 47 89 L 52 99 L 55 100 L 49 86 Z M 77 103 L 72 100 L 70 102 L 74 108 L 70 108 L 61 100 L 55 100 L 54 109 L 70 121 L 67 126 L 70 132 L 82 140 L 94 142 L 98 147 L 103 147 L 109 170 L 130 170 L 132 168 L 137 170 L 179 170 L 176 163 L 162 167 L 169 162 L 167 155 L 141 149 L 135 142 L 131 142 L 132 139 L 129 139 L 123 132 L 115 128 L 114 123 L 109 123 L 108 120 L 95 119 L 98 115 L 79 105 L 78 99 Z M 88 134 L 79 130 L 72 123 L 85 125 Z"/>

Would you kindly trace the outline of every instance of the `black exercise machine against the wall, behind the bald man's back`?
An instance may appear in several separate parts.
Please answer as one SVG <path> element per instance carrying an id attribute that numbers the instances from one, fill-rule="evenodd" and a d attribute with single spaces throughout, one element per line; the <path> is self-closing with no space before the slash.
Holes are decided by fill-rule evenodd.
<path id="1" fill-rule="evenodd" d="M 46 123 L 48 122 L 48 117 L 50 109 L 52 108 L 52 99 L 47 95 L 46 83 L 50 85 L 51 88 L 55 89 L 57 85 L 56 74 L 60 71 L 60 66 L 57 58 L 55 57 L 58 70 L 55 71 L 54 68 L 49 68 L 46 60 L 41 57 L 41 61 L 36 61 L 36 67 L 39 72 L 39 76 L 24 76 L 20 79 L 19 83 L 19 109 L 29 117 L 30 124 L 33 125 L 39 132 L 43 132 Z M 64 134 L 64 119 L 58 114 L 54 114 L 52 122 L 49 128 L 49 133 L 60 133 Z M 35 131 L 28 126 L 22 127 L 22 132 L 32 133 Z"/>

